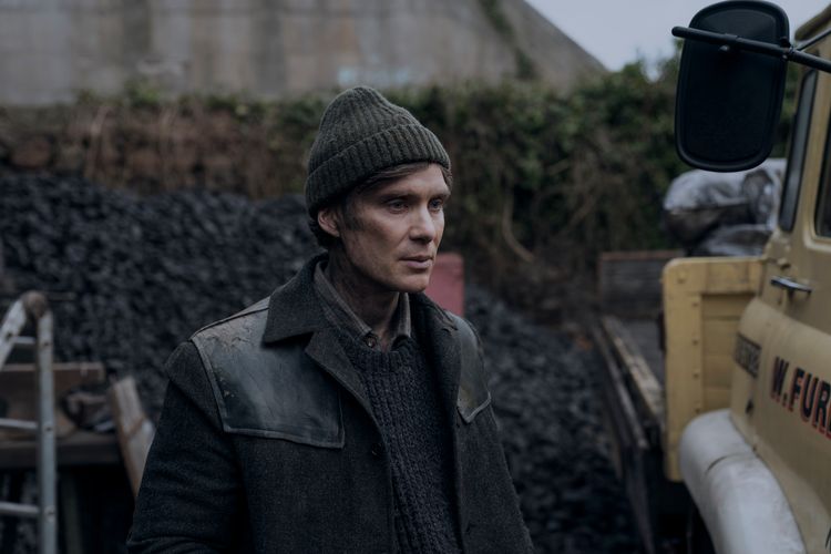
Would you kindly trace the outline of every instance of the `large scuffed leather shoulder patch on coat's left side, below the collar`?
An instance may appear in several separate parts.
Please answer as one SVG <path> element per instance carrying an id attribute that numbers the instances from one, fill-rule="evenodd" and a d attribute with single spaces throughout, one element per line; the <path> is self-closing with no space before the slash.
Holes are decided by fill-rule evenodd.
<path id="1" fill-rule="evenodd" d="M 265 299 L 191 338 L 211 381 L 223 429 L 342 448 L 338 390 L 301 343 L 264 345 L 267 314 Z"/>

